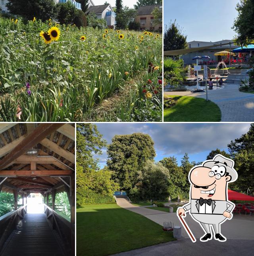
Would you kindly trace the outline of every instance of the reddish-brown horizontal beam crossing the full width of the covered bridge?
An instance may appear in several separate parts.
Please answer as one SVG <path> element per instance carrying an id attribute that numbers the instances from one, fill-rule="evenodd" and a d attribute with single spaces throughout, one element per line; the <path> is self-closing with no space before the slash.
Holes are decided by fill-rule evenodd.
<path id="1" fill-rule="evenodd" d="M 0 171 L 1 177 L 37 177 L 37 176 L 69 176 L 73 173 L 71 170 L 43 170 L 43 171 L 15 171 L 15 170 L 2 170 Z"/>

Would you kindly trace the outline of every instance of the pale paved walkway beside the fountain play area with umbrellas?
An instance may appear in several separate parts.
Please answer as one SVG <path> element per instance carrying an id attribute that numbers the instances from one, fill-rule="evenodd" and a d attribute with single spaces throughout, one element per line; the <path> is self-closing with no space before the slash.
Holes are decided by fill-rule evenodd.
<path id="1" fill-rule="evenodd" d="M 237 84 L 224 84 L 223 89 L 208 90 L 208 99 L 221 110 L 222 122 L 251 122 L 254 120 L 254 94 L 240 92 Z M 165 95 L 180 95 L 206 98 L 206 92 L 164 92 Z"/>

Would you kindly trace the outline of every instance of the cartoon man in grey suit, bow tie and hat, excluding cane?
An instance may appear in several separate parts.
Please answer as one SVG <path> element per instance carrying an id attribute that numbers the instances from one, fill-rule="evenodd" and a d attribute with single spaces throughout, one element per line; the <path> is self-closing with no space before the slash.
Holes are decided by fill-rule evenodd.
<path id="1" fill-rule="evenodd" d="M 216 155 L 213 160 L 207 160 L 201 166 L 195 166 L 189 172 L 190 202 L 177 209 L 179 216 L 186 216 L 190 211 L 192 218 L 199 222 L 205 235 L 200 241 L 212 239 L 211 227 L 214 229 L 214 239 L 224 242 L 221 235 L 221 223 L 232 219 L 235 204 L 227 200 L 227 185 L 237 180 L 237 172 L 233 168 L 234 161 Z"/>

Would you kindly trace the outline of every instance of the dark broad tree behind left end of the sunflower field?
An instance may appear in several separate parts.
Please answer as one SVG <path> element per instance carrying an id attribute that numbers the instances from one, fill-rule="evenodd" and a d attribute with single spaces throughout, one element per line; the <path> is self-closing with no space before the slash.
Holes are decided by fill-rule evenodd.
<path id="1" fill-rule="evenodd" d="M 22 16 L 25 20 L 33 17 L 45 21 L 56 18 L 58 8 L 54 0 L 9 0 L 6 4 L 11 13 Z"/>

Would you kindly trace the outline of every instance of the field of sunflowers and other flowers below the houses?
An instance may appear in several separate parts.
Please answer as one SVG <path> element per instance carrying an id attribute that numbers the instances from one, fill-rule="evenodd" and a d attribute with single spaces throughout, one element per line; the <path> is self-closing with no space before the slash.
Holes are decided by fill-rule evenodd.
<path id="1" fill-rule="evenodd" d="M 162 121 L 162 35 L 0 17 L 0 121 Z"/>

